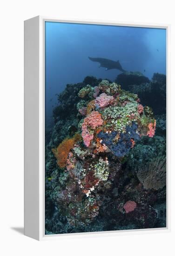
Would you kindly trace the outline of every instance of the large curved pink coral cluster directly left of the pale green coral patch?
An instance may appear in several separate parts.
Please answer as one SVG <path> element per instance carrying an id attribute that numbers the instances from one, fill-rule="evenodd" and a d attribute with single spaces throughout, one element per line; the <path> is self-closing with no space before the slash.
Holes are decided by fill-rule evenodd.
<path id="1" fill-rule="evenodd" d="M 94 138 L 94 134 L 92 134 L 92 130 L 94 130 L 96 127 L 102 125 L 103 120 L 101 118 L 101 114 L 98 111 L 92 111 L 91 114 L 89 114 L 82 123 L 82 137 L 84 144 L 88 147 L 90 145 L 90 142 Z M 89 128 L 92 129 L 91 133 L 89 132 Z"/>

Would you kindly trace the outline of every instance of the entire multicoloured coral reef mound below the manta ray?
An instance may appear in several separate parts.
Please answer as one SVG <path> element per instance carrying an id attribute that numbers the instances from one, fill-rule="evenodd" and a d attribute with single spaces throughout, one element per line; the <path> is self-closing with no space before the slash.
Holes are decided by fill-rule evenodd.
<path id="1" fill-rule="evenodd" d="M 86 77 L 58 95 L 45 151 L 46 234 L 166 226 L 166 115 L 134 91 L 147 82 L 155 93 L 166 80 L 124 76 L 130 92 Z"/>

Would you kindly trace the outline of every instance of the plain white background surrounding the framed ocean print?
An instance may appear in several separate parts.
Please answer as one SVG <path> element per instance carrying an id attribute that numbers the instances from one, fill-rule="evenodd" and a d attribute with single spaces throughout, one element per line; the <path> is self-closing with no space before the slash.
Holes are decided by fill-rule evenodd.
<path id="1" fill-rule="evenodd" d="M 4 0 L 0 3 L 0 255 L 175 255 L 174 0 Z M 23 20 L 103 19 L 171 24 L 171 232 L 37 242 L 23 227 Z M 32 159 L 31 159 L 32 161 Z"/>

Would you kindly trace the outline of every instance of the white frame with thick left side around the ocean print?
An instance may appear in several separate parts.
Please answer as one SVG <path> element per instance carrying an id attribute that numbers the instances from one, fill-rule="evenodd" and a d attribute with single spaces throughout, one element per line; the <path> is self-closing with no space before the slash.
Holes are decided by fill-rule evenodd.
<path id="1" fill-rule="evenodd" d="M 45 21 L 112 26 L 154 27 L 167 31 L 167 227 L 45 235 Z M 170 231 L 170 25 L 108 22 L 104 20 L 58 20 L 37 16 L 24 22 L 24 234 L 37 240 L 61 236 L 116 236 Z"/>

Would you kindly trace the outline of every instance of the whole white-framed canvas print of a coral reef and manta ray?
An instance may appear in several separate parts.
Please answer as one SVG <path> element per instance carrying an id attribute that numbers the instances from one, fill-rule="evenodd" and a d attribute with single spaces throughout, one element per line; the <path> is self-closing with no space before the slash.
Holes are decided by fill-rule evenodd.
<path id="1" fill-rule="evenodd" d="M 25 234 L 169 229 L 168 26 L 25 21 Z"/>

